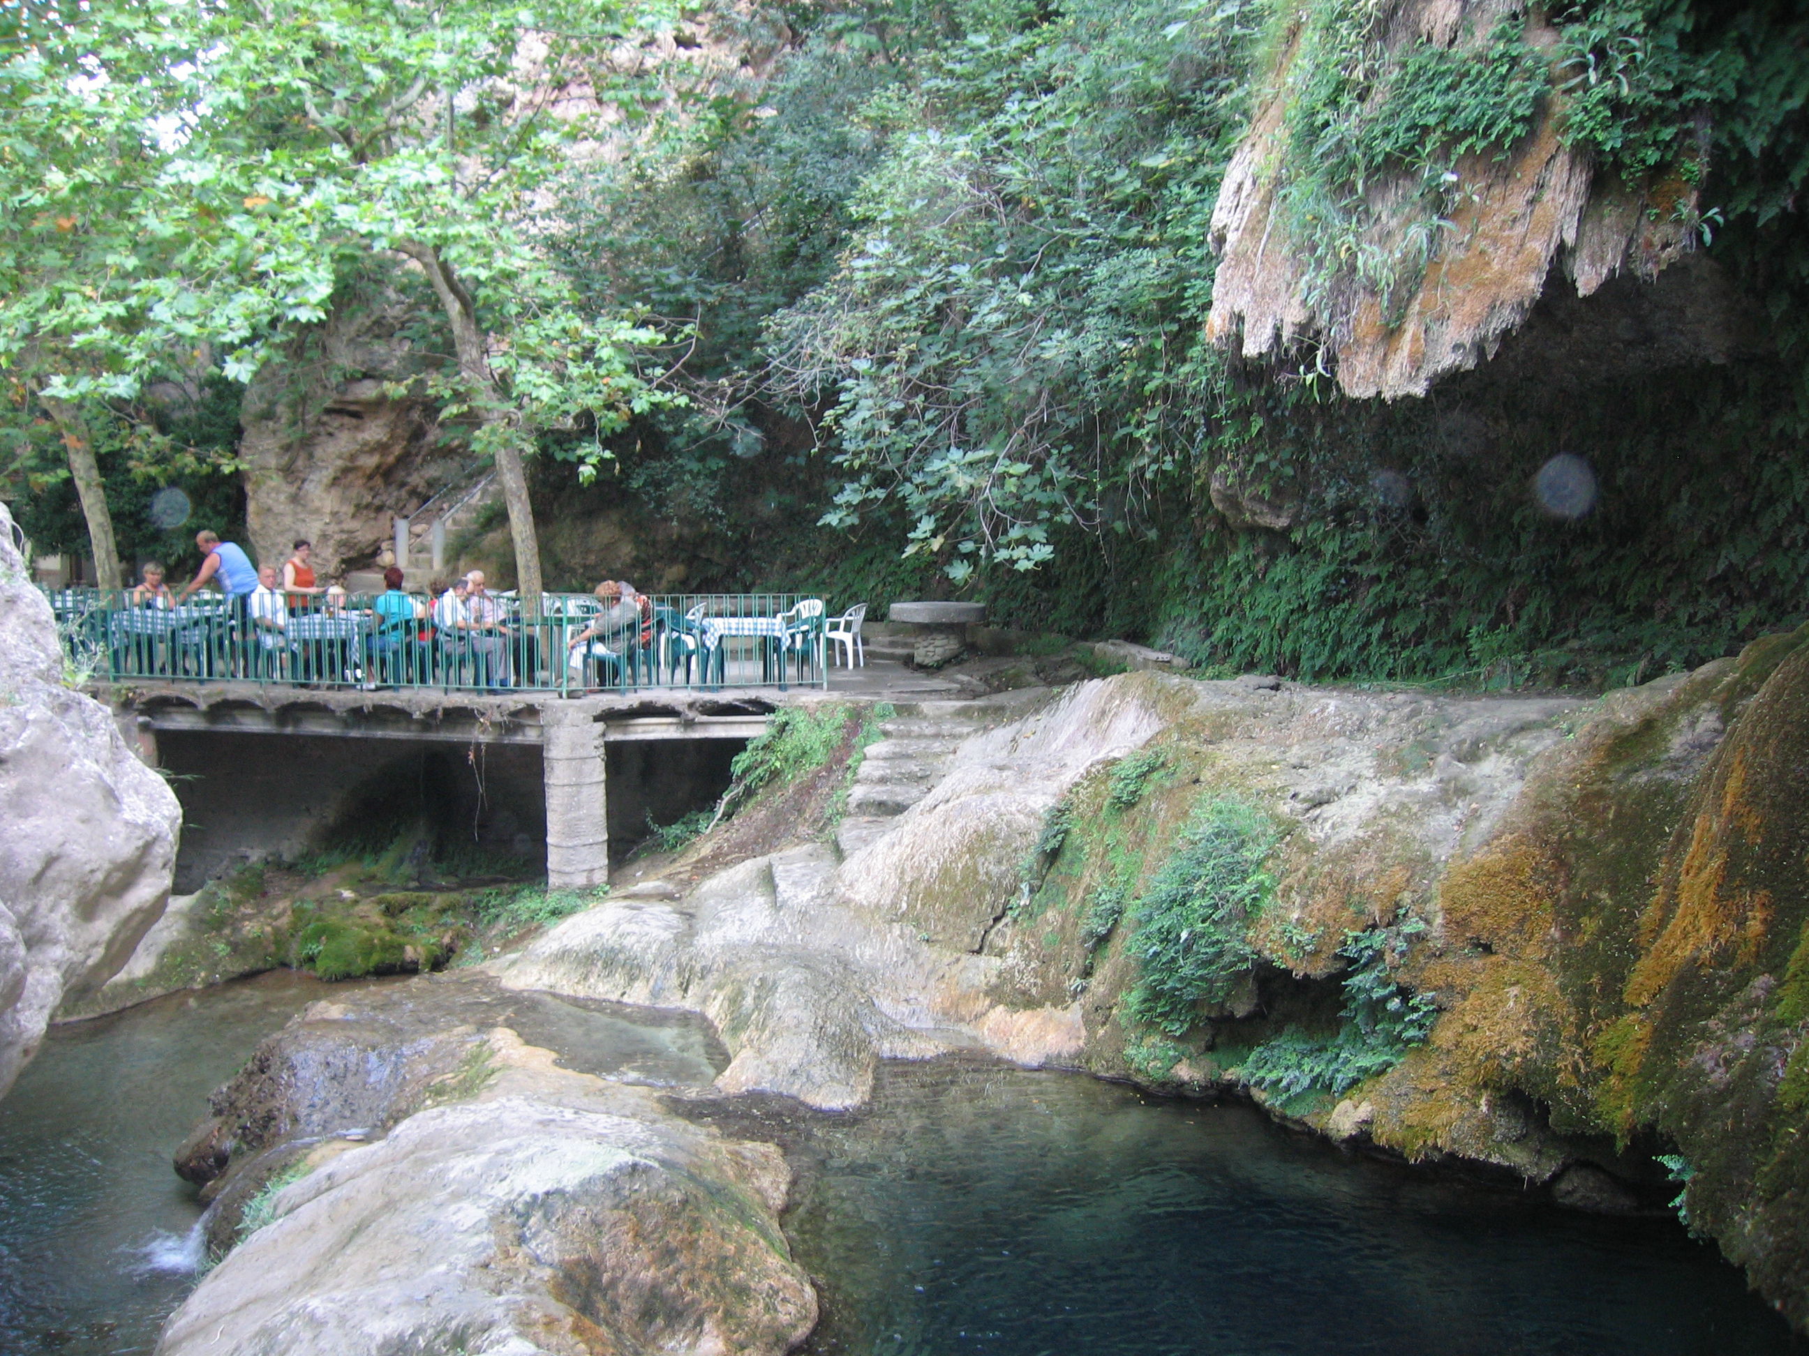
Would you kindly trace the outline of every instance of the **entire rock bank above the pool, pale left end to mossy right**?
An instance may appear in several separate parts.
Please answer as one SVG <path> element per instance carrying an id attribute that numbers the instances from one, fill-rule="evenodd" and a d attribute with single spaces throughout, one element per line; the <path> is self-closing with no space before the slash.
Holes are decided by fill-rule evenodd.
<path id="1" fill-rule="evenodd" d="M 1693 1226 L 1805 1323 L 1805 703 L 1809 627 L 1590 703 L 1127 674 L 975 732 L 838 848 L 608 900 L 497 969 L 702 1011 L 722 1088 L 818 1106 L 979 1047 L 1576 1208 L 1662 1208 L 1675 1148 Z M 1241 917 L 1199 846 L 1225 806 L 1261 843 Z M 1161 938 L 1165 890 L 1192 937 Z M 1378 1045 L 1353 993 L 1424 1025 Z"/>

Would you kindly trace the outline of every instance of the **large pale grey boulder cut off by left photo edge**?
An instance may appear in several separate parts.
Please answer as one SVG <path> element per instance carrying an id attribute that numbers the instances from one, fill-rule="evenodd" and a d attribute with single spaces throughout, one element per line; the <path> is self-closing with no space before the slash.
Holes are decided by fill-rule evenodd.
<path id="1" fill-rule="evenodd" d="M 67 994 L 163 913 L 181 810 L 98 702 L 63 685 L 51 604 L 0 506 L 0 1094 Z"/>

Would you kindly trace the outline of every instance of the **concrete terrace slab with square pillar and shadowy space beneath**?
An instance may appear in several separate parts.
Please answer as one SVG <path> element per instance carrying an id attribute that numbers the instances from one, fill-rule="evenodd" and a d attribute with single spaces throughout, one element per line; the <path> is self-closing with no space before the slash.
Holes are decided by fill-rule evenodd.
<path id="1" fill-rule="evenodd" d="M 713 799 L 733 756 L 774 709 L 830 700 L 772 689 L 557 698 L 259 683 L 136 685 L 103 696 L 183 799 L 179 890 L 235 855 L 304 850 L 336 815 L 358 812 L 360 788 L 382 808 L 385 777 L 405 779 L 409 767 L 421 786 L 452 774 L 470 781 L 441 799 L 470 814 L 474 837 L 517 852 L 523 841 L 545 843 L 550 886 L 608 884 L 611 830 L 622 844 L 646 832 L 649 815 L 671 823 L 693 801 Z"/>

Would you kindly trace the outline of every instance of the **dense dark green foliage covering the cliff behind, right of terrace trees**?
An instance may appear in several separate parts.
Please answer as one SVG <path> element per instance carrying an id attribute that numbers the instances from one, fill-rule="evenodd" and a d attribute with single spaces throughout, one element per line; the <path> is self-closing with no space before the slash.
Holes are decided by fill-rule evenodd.
<path id="1" fill-rule="evenodd" d="M 512 219 L 526 233 L 494 251 L 488 199 L 445 226 L 499 333 L 554 298 L 684 336 L 658 354 L 684 403 L 619 403 L 611 436 L 566 418 L 595 401 L 566 401 L 552 349 L 548 380 L 516 381 L 508 363 L 539 353 L 521 329 L 503 385 L 546 400 L 519 427 L 559 456 L 613 457 L 588 488 L 543 461 L 541 515 L 671 523 L 662 550 L 689 586 L 877 607 L 962 593 L 1009 626 L 1301 678 L 1612 683 L 1798 620 L 1805 20 L 1785 0 L 1574 0 L 1445 43 L 1384 18 L 1351 0 L 895 0 L 684 20 L 707 51 L 640 71 L 657 98 L 620 154 L 523 165 L 517 188 L 557 213 Z M 1655 224 L 1733 280 L 1753 309 L 1729 322 L 1737 360 L 1520 354 L 1380 405 L 1339 398 L 1312 345 L 1277 369 L 1207 345 L 1219 181 L 1272 94 L 1306 300 L 1366 286 L 1388 320 L 1444 248 L 1460 161 L 1552 127 L 1605 183 L 1650 188 Z M 487 134 L 479 114 L 458 112 L 459 137 Z M 284 155 L 308 141 L 270 137 Z M 441 192 L 431 152 L 391 161 L 335 239 L 364 250 L 411 193 Z M 1378 184 L 1406 197 L 1380 212 Z M 204 239 L 282 244 L 286 193 L 223 199 Z M 99 248 L 56 215 L 20 221 L 18 259 Z M 257 311 L 275 293 L 251 284 Z M 1619 304 L 1619 286 L 1586 306 Z M 541 300 L 517 315 L 517 291 Z M 45 492 L 54 434 L 27 421 L 14 438 L 40 448 Z M 128 459 L 98 443 L 103 472 Z M 1558 452 L 1594 468 L 1585 517 L 1529 494 Z M 1219 510 L 1241 494 L 1284 504 L 1286 526 Z M 80 526 L 58 495 L 60 526 L 34 523 L 47 546 Z M 582 532 L 548 550 L 564 586 L 604 570 Z"/>

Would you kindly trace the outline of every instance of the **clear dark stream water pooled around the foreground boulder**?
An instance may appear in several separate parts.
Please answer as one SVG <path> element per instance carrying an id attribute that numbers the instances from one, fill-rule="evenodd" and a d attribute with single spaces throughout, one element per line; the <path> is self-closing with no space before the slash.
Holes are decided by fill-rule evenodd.
<path id="1" fill-rule="evenodd" d="M 170 1152 L 304 1003 L 297 975 L 56 1029 L 0 1101 L 0 1352 L 148 1352 L 199 1217 Z M 700 1083 L 689 1023 L 525 996 L 588 1072 Z M 1711 1246 L 1351 1159 L 1243 1106 L 1069 1074 L 892 1065 L 857 1116 L 733 1112 L 800 1170 L 814 1356 L 1809 1352 Z"/>

